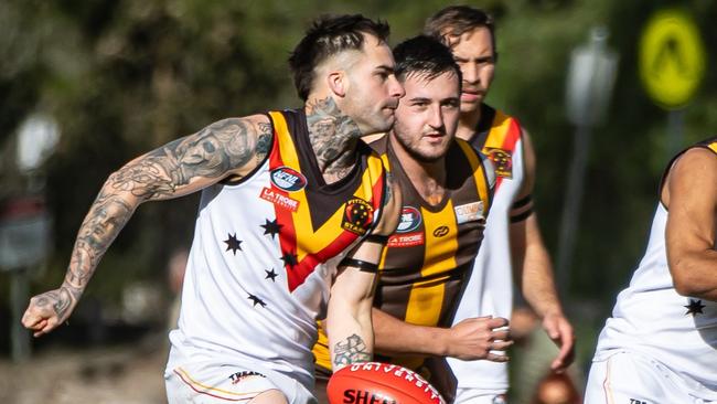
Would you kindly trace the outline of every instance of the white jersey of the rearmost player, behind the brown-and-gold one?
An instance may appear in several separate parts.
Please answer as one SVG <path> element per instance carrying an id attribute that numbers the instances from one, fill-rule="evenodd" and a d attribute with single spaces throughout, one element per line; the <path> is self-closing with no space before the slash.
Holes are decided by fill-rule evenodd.
<path id="1" fill-rule="evenodd" d="M 525 177 L 522 129 L 517 119 L 483 104 L 481 120 L 471 143 L 489 157 L 495 169 L 495 191 L 485 225 L 485 240 L 463 294 L 453 325 L 467 318 L 511 318 L 513 270 L 511 266 L 510 211 Z M 447 359 L 460 389 L 504 393 L 507 363 Z"/>

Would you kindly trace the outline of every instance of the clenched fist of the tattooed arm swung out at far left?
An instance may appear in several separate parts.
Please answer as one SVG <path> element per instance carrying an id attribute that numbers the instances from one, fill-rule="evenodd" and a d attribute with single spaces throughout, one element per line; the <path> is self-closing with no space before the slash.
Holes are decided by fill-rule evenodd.
<path id="1" fill-rule="evenodd" d="M 34 337 L 40 337 L 65 322 L 74 308 L 75 300 L 67 288 L 50 290 L 30 299 L 22 325 L 34 331 Z"/>

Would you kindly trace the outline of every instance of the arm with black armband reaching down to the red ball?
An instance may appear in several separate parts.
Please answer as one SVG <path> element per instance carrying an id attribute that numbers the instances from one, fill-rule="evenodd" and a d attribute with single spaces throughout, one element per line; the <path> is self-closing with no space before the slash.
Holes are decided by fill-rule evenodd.
<path id="1" fill-rule="evenodd" d="M 374 234 L 390 235 L 398 225 L 402 195 L 400 189 L 390 176 L 387 176 L 386 192 L 384 212 L 374 228 Z M 382 244 L 364 241 L 350 254 L 350 257 L 377 264 L 382 251 Z M 363 272 L 357 267 L 339 268 L 339 275 L 331 286 L 325 321 L 334 371 L 351 363 L 371 361 L 373 358 L 374 332 L 371 310 L 375 278 L 375 273 Z"/>

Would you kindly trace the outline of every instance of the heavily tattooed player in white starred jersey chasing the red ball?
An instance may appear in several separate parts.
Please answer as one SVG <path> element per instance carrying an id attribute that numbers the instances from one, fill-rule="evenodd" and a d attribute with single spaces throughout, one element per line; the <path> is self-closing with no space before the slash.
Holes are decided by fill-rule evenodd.
<path id="1" fill-rule="evenodd" d="M 25 327 L 41 336 L 69 317 L 140 203 L 203 190 L 170 334 L 170 402 L 313 402 L 310 349 L 329 296 L 334 365 L 370 360 L 371 237 L 393 232 L 400 205 L 360 141 L 390 128 L 404 94 L 387 34 L 361 15 L 320 19 L 289 61 L 303 108 L 217 121 L 113 173 L 62 286 L 31 299 Z"/>

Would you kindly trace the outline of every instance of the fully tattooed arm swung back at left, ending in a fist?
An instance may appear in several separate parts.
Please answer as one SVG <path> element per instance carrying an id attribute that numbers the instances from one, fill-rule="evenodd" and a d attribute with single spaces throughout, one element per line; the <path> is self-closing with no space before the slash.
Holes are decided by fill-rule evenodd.
<path id="1" fill-rule="evenodd" d="M 271 136 L 266 116 L 225 119 L 114 172 L 79 227 L 64 281 L 58 289 L 33 297 L 22 323 L 39 337 L 69 317 L 99 259 L 140 203 L 185 195 L 229 176 L 248 174 L 266 158 Z"/>

